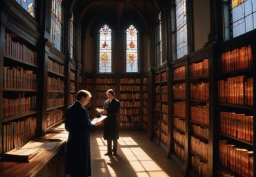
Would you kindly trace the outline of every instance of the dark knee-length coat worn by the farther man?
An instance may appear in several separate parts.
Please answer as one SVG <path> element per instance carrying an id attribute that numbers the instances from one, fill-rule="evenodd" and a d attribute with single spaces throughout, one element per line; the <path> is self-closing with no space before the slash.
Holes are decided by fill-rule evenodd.
<path id="1" fill-rule="evenodd" d="M 120 110 L 120 102 L 113 98 L 107 107 L 109 100 L 106 100 L 103 109 L 107 112 L 107 118 L 104 120 L 103 138 L 106 140 L 119 139 L 118 135 L 118 111 Z"/>

